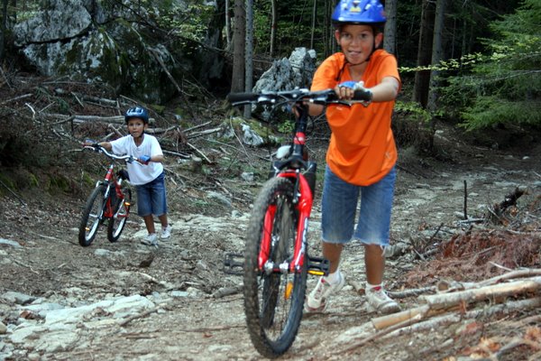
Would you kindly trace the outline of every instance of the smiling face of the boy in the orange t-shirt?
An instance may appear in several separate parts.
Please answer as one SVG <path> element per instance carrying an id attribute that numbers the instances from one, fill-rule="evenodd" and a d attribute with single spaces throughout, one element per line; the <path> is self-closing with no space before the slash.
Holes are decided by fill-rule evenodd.
<path id="1" fill-rule="evenodd" d="M 335 38 L 346 59 L 360 64 L 368 59 L 374 46 L 380 46 L 383 34 L 379 32 L 374 36 L 370 25 L 345 24 L 335 32 Z"/>

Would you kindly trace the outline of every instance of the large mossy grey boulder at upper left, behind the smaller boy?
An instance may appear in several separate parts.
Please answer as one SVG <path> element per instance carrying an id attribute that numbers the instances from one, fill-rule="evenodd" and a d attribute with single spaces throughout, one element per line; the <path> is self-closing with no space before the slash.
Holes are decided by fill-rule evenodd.
<path id="1" fill-rule="evenodd" d="M 182 3 L 171 2 L 171 9 L 186 8 Z M 118 93 L 164 103 L 179 90 L 170 76 L 181 79 L 201 66 L 186 55 L 186 43 L 149 26 L 152 16 L 142 7 L 134 14 L 100 0 L 49 0 L 43 9 L 14 27 L 16 46 L 43 75 L 96 80 Z"/>

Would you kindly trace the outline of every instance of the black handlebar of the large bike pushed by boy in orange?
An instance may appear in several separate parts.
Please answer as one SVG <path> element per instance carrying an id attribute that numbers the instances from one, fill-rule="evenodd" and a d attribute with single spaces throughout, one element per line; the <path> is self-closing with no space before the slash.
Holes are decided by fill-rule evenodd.
<path id="1" fill-rule="evenodd" d="M 367 89 L 355 90 L 352 99 L 340 99 L 334 89 L 310 91 L 307 88 L 282 91 L 262 91 L 261 93 L 230 93 L 227 100 L 233 106 L 260 103 L 277 105 L 280 103 L 313 103 L 319 105 L 343 104 L 351 106 L 355 103 L 366 103 L 371 100 L 371 92 Z"/>

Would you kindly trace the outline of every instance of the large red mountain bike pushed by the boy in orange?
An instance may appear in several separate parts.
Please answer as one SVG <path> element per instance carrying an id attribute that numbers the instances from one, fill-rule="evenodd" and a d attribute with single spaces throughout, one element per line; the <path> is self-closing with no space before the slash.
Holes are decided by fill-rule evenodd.
<path id="1" fill-rule="evenodd" d="M 326 259 L 307 254 L 308 219 L 316 184 L 316 163 L 305 150 L 307 103 L 320 105 L 362 103 L 370 95 L 357 90 L 353 101 L 336 97 L 333 89 L 234 93 L 233 106 L 260 104 L 296 106 L 295 133 L 290 145 L 277 152 L 273 176 L 263 185 L 253 205 L 243 261 L 225 255 L 225 272 L 243 266 L 244 312 L 253 346 L 263 356 L 284 354 L 297 337 L 307 289 L 307 274 L 326 275 Z"/>

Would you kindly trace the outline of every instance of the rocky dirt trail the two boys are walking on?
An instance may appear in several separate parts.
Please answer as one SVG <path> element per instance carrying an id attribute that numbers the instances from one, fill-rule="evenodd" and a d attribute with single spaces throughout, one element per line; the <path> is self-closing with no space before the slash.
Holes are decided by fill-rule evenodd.
<path id="1" fill-rule="evenodd" d="M 445 133 L 439 136 L 447 141 Z M 472 218 L 482 218 L 487 206 L 517 186 L 529 187 L 529 194 L 518 200 L 518 212 L 539 218 L 539 201 L 537 209 L 527 205 L 541 194 L 540 145 L 523 153 L 456 149 L 445 164 L 402 152 L 386 275 L 391 292 L 433 286 L 448 277 L 428 265 L 438 256 L 431 250 L 472 227 L 484 227 L 458 218 L 464 208 L 464 181 Z M 259 183 L 239 180 L 236 187 L 254 194 Z M 170 186 L 171 198 L 190 191 L 195 190 Z M 93 245 L 83 248 L 77 242 L 80 200 L 55 202 L 29 194 L 23 199 L 25 207 L 11 196 L 0 202 L 0 360 L 262 358 L 245 328 L 242 278 L 222 272 L 224 253 L 243 249 L 247 203 L 233 201 L 213 216 L 172 207 L 171 239 L 158 248 L 139 243 L 144 227 L 136 216 L 117 243 L 109 243 L 102 228 Z M 309 235 L 313 255 L 319 253 L 318 202 L 319 197 Z M 539 228 L 531 235 L 538 242 Z M 534 268 L 541 268 L 538 249 Z M 295 343 L 281 359 L 469 360 L 481 353 L 472 351 L 478 348 L 486 351 L 484 356 L 493 356 L 497 351 L 480 346 L 483 339 L 498 336 L 501 345 L 507 344 L 501 339 L 524 330 L 524 325 L 511 327 L 512 322 L 538 312 L 458 319 L 353 347 L 373 334 L 367 325 L 376 315 L 364 310 L 358 292 L 364 283 L 362 247 L 348 245 L 344 255 L 348 285 L 326 313 L 302 320 Z M 462 274 L 460 281 L 469 278 Z M 316 278 L 308 282 L 311 289 Z M 419 304 L 415 296 L 399 302 L 403 309 Z M 460 310 L 454 313 L 461 315 Z M 539 329 L 541 320 L 527 325 Z M 514 351 L 524 359 L 536 356 L 540 340 Z"/>

